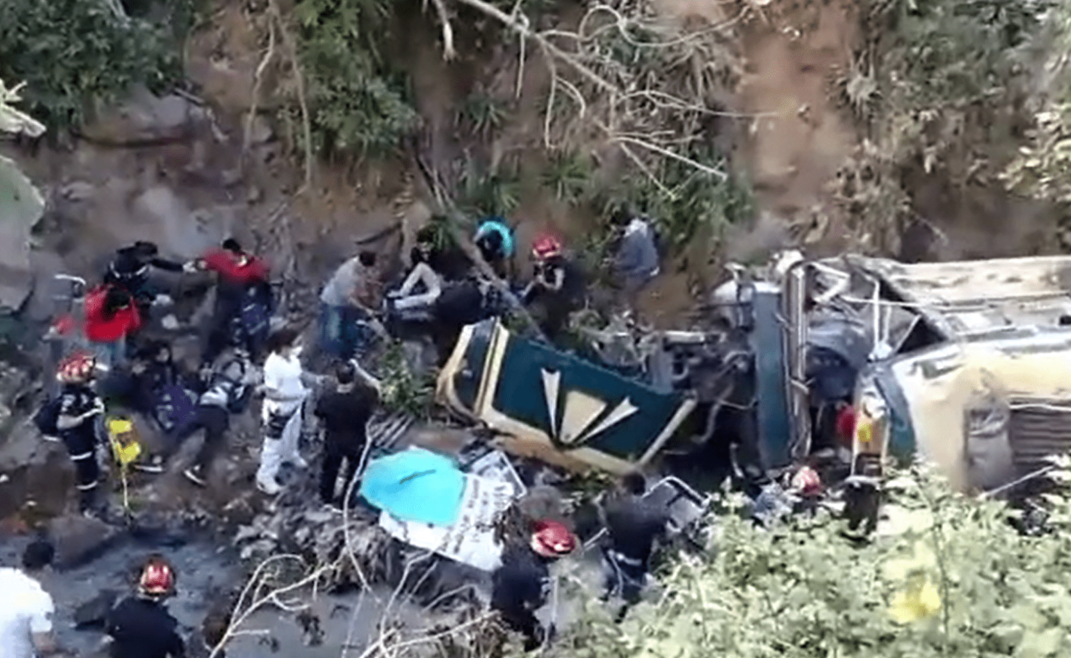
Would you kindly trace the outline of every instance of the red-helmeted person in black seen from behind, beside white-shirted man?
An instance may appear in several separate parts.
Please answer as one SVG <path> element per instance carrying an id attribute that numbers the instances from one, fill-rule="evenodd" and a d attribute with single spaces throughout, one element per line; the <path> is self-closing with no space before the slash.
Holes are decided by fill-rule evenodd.
<path id="1" fill-rule="evenodd" d="M 111 658 L 184 658 L 185 643 L 179 623 L 164 607 L 175 593 L 175 569 L 160 555 L 141 568 L 137 594 L 123 599 L 108 613 L 104 632 L 111 638 Z"/>

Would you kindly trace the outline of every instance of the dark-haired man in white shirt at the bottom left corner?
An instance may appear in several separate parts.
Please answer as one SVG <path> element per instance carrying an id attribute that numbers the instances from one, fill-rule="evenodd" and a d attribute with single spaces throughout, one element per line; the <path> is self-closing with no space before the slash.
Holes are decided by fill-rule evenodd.
<path id="1" fill-rule="evenodd" d="M 0 569 L 0 658 L 71 656 L 52 637 L 52 597 L 37 579 L 51 566 L 56 549 L 37 540 L 22 552 L 22 569 Z"/>

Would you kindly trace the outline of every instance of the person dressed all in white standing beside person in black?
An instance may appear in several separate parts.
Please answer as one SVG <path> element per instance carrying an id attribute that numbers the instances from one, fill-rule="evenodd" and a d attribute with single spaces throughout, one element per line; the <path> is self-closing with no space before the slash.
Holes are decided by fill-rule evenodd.
<path id="1" fill-rule="evenodd" d="M 274 495 L 282 490 L 276 477 L 284 462 L 300 469 L 308 465 L 298 452 L 308 388 L 300 359 L 303 346 L 296 330 L 284 327 L 273 333 L 267 349 L 261 408 L 265 442 L 256 479 L 260 491 Z"/>

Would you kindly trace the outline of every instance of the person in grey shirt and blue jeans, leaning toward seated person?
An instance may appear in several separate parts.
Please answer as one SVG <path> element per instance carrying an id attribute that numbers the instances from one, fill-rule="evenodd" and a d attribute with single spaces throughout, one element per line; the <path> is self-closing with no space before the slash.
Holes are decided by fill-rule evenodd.
<path id="1" fill-rule="evenodd" d="M 320 349 L 336 358 L 363 351 L 359 323 L 379 324 L 375 313 L 381 291 L 375 251 L 361 251 L 340 265 L 320 292 Z"/>

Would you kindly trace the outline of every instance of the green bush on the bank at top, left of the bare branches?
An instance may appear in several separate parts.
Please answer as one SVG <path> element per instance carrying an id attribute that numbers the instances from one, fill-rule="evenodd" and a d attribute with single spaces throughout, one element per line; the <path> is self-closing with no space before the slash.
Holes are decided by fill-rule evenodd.
<path id="1" fill-rule="evenodd" d="M 386 50 L 397 36 L 396 11 L 387 0 L 301 0 L 295 6 L 318 153 L 393 153 L 418 127 L 408 78 Z"/>

